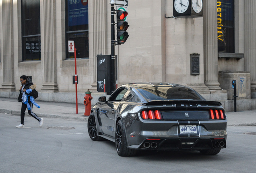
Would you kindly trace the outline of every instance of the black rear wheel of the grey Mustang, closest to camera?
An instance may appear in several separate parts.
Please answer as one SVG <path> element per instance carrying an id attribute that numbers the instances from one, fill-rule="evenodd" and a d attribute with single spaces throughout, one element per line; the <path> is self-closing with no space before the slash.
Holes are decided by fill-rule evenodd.
<path id="1" fill-rule="evenodd" d="M 115 139 L 116 139 L 116 151 L 118 155 L 120 156 L 136 155 L 137 150 L 127 148 L 126 136 L 124 133 L 124 125 L 122 120 L 119 120 L 118 123 L 116 124 Z"/>

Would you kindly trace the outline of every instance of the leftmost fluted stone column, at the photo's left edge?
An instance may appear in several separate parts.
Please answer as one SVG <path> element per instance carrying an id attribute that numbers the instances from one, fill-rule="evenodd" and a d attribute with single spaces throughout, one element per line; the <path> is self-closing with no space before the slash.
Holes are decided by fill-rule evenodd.
<path id="1" fill-rule="evenodd" d="M 13 2 L 2 0 L 2 56 L 3 83 L 0 91 L 15 91 L 13 56 Z"/>

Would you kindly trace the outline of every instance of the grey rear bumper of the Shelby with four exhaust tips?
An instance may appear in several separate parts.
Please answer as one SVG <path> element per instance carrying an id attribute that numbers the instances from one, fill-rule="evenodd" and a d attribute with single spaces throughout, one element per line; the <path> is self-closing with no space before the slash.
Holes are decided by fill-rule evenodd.
<path id="1" fill-rule="evenodd" d="M 134 123 L 132 128 L 126 129 L 128 148 L 203 150 L 226 147 L 227 120 L 221 120 L 218 123 L 214 121 L 194 123 L 197 129 L 197 133 L 194 134 L 180 133 L 180 125 L 179 122 L 167 123 L 164 121 L 159 124 L 144 122 Z M 136 131 L 129 131 L 130 129 L 136 129 Z"/>

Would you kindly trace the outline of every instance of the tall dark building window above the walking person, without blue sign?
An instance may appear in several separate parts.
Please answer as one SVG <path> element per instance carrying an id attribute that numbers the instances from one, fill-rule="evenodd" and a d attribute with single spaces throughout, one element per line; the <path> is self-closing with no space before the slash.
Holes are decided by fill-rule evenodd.
<path id="1" fill-rule="evenodd" d="M 22 0 L 22 60 L 41 60 L 40 0 Z"/>

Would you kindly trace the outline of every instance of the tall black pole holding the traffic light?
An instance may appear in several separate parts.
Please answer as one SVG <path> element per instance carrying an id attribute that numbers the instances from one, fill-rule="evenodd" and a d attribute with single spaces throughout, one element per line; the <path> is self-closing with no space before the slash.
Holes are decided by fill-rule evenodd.
<path id="1" fill-rule="evenodd" d="M 115 7 L 111 4 L 111 92 L 116 90 Z"/>

